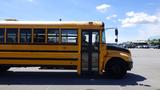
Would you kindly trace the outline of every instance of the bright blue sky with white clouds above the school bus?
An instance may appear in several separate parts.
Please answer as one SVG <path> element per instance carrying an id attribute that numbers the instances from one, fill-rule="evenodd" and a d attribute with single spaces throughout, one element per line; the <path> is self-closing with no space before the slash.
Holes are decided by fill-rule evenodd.
<path id="1" fill-rule="evenodd" d="M 160 0 L 0 0 L 0 20 L 103 21 L 119 42 L 160 36 Z M 107 42 L 114 30 L 106 29 Z"/>

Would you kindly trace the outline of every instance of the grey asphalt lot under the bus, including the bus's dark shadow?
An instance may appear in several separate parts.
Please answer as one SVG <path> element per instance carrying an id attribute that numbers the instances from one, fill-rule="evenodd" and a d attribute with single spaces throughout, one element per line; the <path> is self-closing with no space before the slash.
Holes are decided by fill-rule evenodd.
<path id="1" fill-rule="evenodd" d="M 131 49 L 134 67 L 124 79 L 79 77 L 75 71 L 11 68 L 0 90 L 160 90 L 160 49 Z"/>

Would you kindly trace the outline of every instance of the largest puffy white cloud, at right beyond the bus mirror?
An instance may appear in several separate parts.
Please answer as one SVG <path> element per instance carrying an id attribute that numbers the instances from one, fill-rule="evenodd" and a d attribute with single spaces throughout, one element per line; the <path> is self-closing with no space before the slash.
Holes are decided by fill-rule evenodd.
<path id="1" fill-rule="evenodd" d="M 135 13 L 133 11 L 126 13 L 125 19 L 119 19 L 121 21 L 122 27 L 131 27 L 137 24 L 156 24 L 159 22 L 157 16 L 148 15 L 144 12 Z"/>

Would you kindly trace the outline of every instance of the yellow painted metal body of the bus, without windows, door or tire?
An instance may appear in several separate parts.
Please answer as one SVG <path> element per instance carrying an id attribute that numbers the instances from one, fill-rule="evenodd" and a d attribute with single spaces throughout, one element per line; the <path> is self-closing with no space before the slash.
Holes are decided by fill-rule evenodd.
<path id="1" fill-rule="evenodd" d="M 106 44 L 102 43 L 102 30 L 104 26 L 102 23 L 66 23 L 58 22 L 57 24 L 3 24 L 0 22 L 0 28 L 31 28 L 32 29 L 32 45 L 20 44 L 20 35 L 18 34 L 18 44 L 0 44 L 0 64 L 27 64 L 27 65 L 76 65 L 77 73 L 81 73 L 81 30 L 94 30 L 97 29 L 100 31 L 100 53 L 99 53 L 99 74 L 103 74 L 105 64 L 112 57 L 120 57 L 125 61 L 129 61 L 131 55 L 116 50 L 107 50 Z M 44 28 L 45 29 L 45 43 L 44 44 L 35 44 L 34 45 L 34 28 Z M 47 29 L 56 28 L 59 29 L 59 45 L 48 45 L 47 44 Z M 61 44 L 61 29 L 76 29 L 78 31 L 78 43 L 77 45 L 62 45 Z M 18 30 L 19 32 L 19 30 Z M 6 43 L 6 32 L 4 33 L 4 43 Z M 45 45 L 46 44 L 46 45 Z M 6 51 L 5 51 L 6 50 Z M 13 52 L 13 51 L 16 52 Z M 19 51 L 18 51 L 19 50 Z M 25 52 L 27 50 L 27 52 Z M 4 51 L 4 52 L 3 52 Z M 34 51 L 34 52 L 32 52 Z M 35 52 L 36 51 L 36 52 Z M 43 52 L 41 52 L 43 51 Z M 53 51 L 53 52 L 51 52 Z M 56 52 L 57 51 L 57 52 Z M 53 58 L 54 60 L 3 60 L 3 58 Z M 56 60 L 57 58 L 57 60 Z M 58 60 L 61 58 L 62 60 Z M 68 58 L 68 60 L 66 60 Z M 70 59 L 77 60 L 70 60 Z M 64 60 L 63 60 L 64 59 Z"/>

